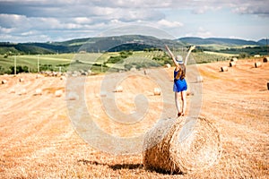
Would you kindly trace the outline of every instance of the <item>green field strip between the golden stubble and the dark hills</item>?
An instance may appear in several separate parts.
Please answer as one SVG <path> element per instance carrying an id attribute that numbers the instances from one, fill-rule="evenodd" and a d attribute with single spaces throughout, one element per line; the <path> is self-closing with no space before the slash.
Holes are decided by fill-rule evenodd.
<path id="1" fill-rule="evenodd" d="M 181 54 L 183 57 L 186 51 L 174 52 L 175 55 Z M 118 72 L 130 70 L 132 67 L 137 69 L 158 67 L 164 64 L 172 64 L 169 56 L 162 51 L 135 51 L 131 55 L 126 55 L 123 60 L 117 63 L 109 63 L 111 58 L 117 58 L 120 52 L 109 53 L 82 53 L 82 54 L 58 54 L 58 55 L 9 55 L 4 57 L 0 55 L 0 74 L 12 73 L 16 59 L 16 66 L 22 66 L 26 72 L 40 71 L 88 71 L 92 72 Z M 230 59 L 230 54 L 213 53 L 213 52 L 196 52 L 192 53 L 189 64 L 210 63 L 213 61 L 223 61 Z"/>

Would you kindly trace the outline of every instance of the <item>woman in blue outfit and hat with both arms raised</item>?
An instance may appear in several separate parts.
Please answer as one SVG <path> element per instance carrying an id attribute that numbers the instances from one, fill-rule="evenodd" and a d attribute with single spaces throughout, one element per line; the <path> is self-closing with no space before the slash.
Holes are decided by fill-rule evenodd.
<path id="1" fill-rule="evenodd" d="M 181 55 L 173 55 L 173 53 L 170 51 L 169 47 L 165 45 L 166 49 L 169 52 L 169 55 L 171 56 L 173 63 L 175 64 L 176 68 L 174 70 L 174 87 L 173 91 L 175 92 L 175 101 L 176 101 L 176 107 L 178 109 L 178 117 L 184 116 L 186 107 L 187 107 L 187 100 L 186 100 L 186 91 L 187 91 L 187 82 L 185 80 L 186 77 L 186 65 L 188 56 L 190 55 L 191 51 L 195 49 L 194 47 L 190 47 L 187 56 L 185 58 L 185 62 L 182 60 Z M 179 104 L 179 98 L 181 98 L 182 106 L 180 107 Z"/>

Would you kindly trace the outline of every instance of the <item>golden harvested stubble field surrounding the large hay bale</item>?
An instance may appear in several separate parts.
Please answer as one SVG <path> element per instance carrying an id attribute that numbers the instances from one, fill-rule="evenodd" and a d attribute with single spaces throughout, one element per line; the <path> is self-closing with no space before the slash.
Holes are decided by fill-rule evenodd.
<path id="1" fill-rule="evenodd" d="M 256 68 L 256 61 L 239 60 L 236 66 L 228 67 L 228 72 L 220 71 L 222 66 L 229 65 L 228 61 L 197 64 L 203 82 L 197 82 L 198 75 L 193 76 L 194 80 L 187 76 L 189 86 L 203 85 L 199 115 L 215 126 L 221 138 L 217 161 L 187 174 L 148 169 L 143 165 L 143 152 L 122 155 L 128 153 L 122 149 L 128 146 L 117 145 L 101 135 L 89 143 L 80 137 L 87 132 L 87 118 L 70 120 L 73 115 L 83 116 L 86 109 L 102 132 L 139 139 L 159 119 L 177 115 L 172 92 L 173 67 L 149 70 L 150 74 L 167 72 L 169 90 L 141 71 L 126 72 L 126 78 L 117 81 L 121 92 L 114 91 L 117 85 L 102 88 L 104 75 L 89 76 L 82 79 L 82 84 L 73 83 L 68 88 L 68 78 L 63 81 L 59 77 L 37 79 L 36 74 L 0 76 L 0 81 L 6 81 L 0 84 L 0 178 L 268 178 L 269 64 Z M 187 66 L 188 75 L 193 75 L 194 67 Z M 120 75 L 123 73 L 111 74 L 109 80 L 117 80 Z M 72 78 L 76 81 L 80 77 Z M 84 96 L 80 94 L 81 88 Z M 161 95 L 154 95 L 154 88 L 161 88 Z M 36 90 L 42 93 L 36 95 Z M 56 91 L 62 95 L 56 96 Z M 72 95 L 66 95 L 69 92 Z M 138 94 L 143 97 L 135 98 Z M 191 115 L 194 88 L 188 94 L 187 115 Z M 146 101 L 146 110 L 140 107 L 141 101 Z M 77 110 L 82 111 L 76 113 Z M 143 119 L 135 121 L 135 116 Z M 122 120 L 126 121 L 121 123 Z M 140 151 L 140 144 L 134 141 L 133 147 Z"/>

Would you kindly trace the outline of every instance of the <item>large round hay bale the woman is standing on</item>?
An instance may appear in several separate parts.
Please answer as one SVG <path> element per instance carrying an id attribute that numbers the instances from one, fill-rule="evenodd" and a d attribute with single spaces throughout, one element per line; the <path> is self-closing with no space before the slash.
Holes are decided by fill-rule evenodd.
<path id="1" fill-rule="evenodd" d="M 221 156 L 221 137 L 205 117 L 181 117 L 156 124 L 143 143 L 146 169 L 187 174 L 213 166 Z"/>

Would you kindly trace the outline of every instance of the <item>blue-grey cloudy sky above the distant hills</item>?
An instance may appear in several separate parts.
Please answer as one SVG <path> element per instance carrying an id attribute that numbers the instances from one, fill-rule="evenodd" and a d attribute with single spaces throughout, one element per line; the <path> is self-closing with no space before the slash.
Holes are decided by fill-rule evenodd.
<path id="1" fill-rule="evenodd" d="M 0 0 L 0 41 L 269 38 L 269 0 Z"/>

